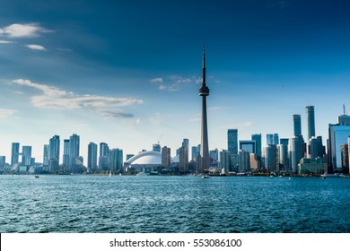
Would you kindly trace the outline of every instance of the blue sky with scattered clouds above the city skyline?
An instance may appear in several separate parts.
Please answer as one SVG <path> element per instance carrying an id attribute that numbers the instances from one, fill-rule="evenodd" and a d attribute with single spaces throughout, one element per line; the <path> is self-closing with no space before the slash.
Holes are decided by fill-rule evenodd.
<path id="1" fill-rule="evenodd" d="M 315 106 L 326 140 L 350 108 L 346 0 L 0 0 L 0 155 L 57 134 L 109 143 L 124 155 L 200 143 L 206 45 L 209 149 L 227 130 L 293 136 L 293 114 Z M 62 160 L 61 160 L 62 161 Z"/>

